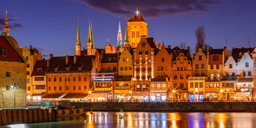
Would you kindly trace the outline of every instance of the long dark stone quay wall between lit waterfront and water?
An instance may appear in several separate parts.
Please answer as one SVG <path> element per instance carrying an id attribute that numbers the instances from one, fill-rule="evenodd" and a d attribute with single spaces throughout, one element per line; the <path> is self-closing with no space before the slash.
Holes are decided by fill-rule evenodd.
<path id="1" fill-rule="evenodd" d="M 139 112 L 254 112 L 256 102 L 93 102 L 70 103 L 87 111 Z"/>

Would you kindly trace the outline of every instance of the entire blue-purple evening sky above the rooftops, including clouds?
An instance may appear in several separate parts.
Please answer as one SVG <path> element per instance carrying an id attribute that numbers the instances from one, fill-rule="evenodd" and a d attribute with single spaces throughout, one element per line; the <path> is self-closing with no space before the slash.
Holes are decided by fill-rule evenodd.
<path id="1" fill-rule="evenodd" d="M 148 36 L 172 48 L 183 42 L 193 51 L 200 25 L 214 49 L 224 48 L 226 38 L 229 50 L 256 47 L 255 0 L 6 0 L 0 2 L 0 30 L 7 10 L 10 36 L 20 47 L 32 45 L 46 59 L 73 56 L 78 16 L 81 47 L 86 49 L 90 18 L 95 47 L 104 48 L 108 38 L 117 46 L 119 21 L 124 39 L 126 17 L 136 9 L 148 23 Z"/>

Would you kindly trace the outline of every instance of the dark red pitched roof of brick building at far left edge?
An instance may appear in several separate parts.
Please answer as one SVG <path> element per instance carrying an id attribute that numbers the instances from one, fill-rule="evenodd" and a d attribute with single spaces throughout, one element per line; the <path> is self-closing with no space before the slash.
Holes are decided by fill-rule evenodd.
<path id="1" fill-rule="evenodd" d="M 2 49 L 7 50 L 7 57 L 2 55 Z M 16 52 L 5 36 L 0 36 L 0 60 L 25 62 Z"/>

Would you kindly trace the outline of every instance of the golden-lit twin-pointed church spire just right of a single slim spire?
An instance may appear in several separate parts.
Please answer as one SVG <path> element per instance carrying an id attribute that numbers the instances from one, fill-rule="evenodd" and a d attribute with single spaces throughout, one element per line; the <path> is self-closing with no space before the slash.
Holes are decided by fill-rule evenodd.
<path id="1" fill-rule="evenodd" d="M 88 40 L 87 40 L 87 55 L 94 55 L 95 54 L 95 47 L 92 38 L 92 23 L 89 19 L 89 29 L 88 29 Z"/>

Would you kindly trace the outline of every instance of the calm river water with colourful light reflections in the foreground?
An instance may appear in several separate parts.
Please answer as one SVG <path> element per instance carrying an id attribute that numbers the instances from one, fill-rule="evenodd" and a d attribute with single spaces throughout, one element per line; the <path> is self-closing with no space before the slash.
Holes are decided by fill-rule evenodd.
<path id="1" fill-rule="evenodd" d="M 60 120 L 0 128 L 256 128 L 250 112 L 88 112 Z"/>

